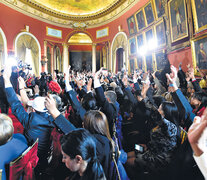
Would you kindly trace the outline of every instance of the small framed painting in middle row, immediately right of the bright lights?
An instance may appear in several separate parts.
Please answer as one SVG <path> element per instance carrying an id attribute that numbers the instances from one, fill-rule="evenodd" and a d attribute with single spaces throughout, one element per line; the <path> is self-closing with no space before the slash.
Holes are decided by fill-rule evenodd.
<path id="1" fill-rule="evenodd" d="M 166 44 L 166 33 L 163 20 L 155 25 L 155 35 L 157 39 L 157 44 L 159 46 L 164 46 Z"/>

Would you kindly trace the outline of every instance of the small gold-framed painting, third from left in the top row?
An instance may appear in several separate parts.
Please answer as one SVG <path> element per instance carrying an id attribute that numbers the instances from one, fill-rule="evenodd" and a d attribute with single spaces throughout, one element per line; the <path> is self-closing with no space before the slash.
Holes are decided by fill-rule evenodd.
<path id="1" fill-rule="evenodd" d="M 146 25 L 149 26 L 155 21 L 153 4 L 149 1 L 144 7 L 144 14 L 146 18 Z"/>

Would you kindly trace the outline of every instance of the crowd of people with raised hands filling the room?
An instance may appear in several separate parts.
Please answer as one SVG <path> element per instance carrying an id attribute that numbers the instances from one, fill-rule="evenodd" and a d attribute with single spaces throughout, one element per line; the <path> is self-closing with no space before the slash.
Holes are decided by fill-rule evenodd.
<path id="1" fill-rule="evenodd" d="M 199 70 L 199 69 L 198 69 Z M 0 169 L 38 138 L 35 179 L 207 178 L 207 75 L 101 68 L 0 76 Z M 199 84 L 200 81 L 200 84 Z M 14 134 L 11 109 L 22 124 Z"/>

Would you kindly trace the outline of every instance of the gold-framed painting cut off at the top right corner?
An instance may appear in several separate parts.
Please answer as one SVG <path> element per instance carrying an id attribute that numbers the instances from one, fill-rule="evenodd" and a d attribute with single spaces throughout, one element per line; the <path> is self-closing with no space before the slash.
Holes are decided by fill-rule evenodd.
<path id="1" fill-rule="evenodd" d="M 207 1 L 191 0 L 195 32 L 207 28 Z"/>

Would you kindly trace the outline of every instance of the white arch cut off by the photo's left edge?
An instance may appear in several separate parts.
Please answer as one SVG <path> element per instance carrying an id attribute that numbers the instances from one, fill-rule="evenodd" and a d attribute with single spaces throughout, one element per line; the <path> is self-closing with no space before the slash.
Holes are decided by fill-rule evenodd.
<path id="1" fill-rule="evenodd" d="M 7 59 L 7 40 L 3 30 L 0 28 L 0 68 L 3 68 Z"/>

